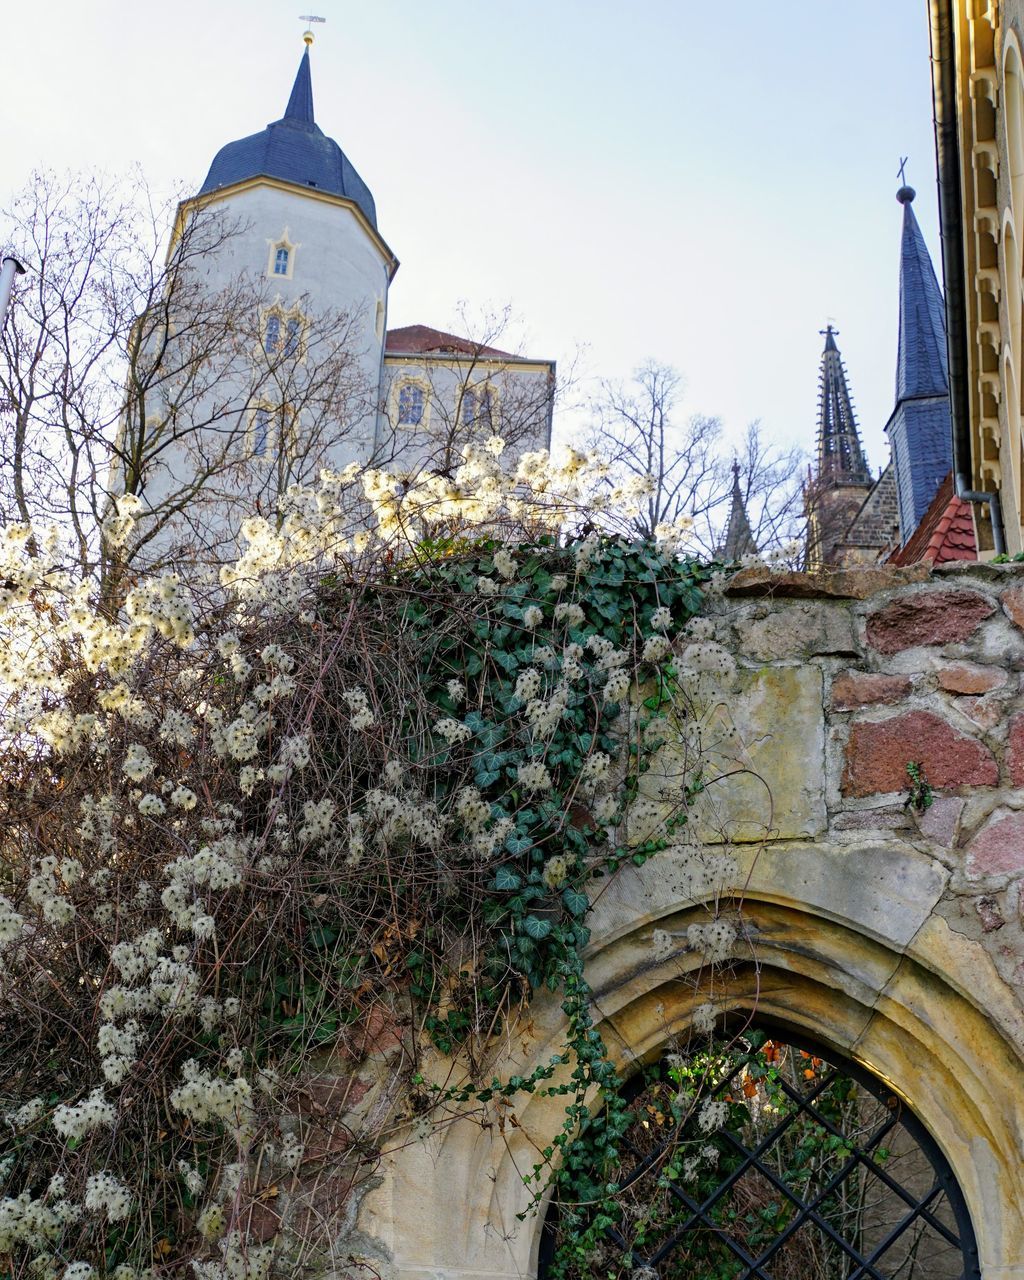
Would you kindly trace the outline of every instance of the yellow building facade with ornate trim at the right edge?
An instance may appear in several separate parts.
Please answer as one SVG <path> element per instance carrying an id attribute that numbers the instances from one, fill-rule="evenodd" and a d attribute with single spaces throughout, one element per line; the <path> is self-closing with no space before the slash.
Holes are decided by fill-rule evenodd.
<path id="1" fill-rule="evenodd" d="M 1024 3 L 929 0 L 954 470 L 980 554 L 1024 549 Z"/>

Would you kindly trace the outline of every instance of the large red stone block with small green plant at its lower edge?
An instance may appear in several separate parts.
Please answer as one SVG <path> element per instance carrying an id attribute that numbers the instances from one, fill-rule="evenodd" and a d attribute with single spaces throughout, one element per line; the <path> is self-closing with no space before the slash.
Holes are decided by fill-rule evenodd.
<path id="1" fill-rule="evenodd" d="M 849 796 L 906 791 L 906 765 L 923 767 L 933 787 L 995 786 L 998 765 L 988 748 L 932 712 L 908 712 L 850 730 L 842 791 Z"/>

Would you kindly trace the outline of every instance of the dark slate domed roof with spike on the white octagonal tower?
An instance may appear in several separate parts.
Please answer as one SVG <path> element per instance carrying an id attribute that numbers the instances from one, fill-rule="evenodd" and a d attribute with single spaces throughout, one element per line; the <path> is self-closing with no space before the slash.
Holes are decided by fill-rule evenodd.
<path id="1" fill-rule="evenodd" d="M 221 147 L 198 193 L 204 196 L 218 187 L 260 177 L 351 200 L 376 230 L 376 209 L 370 188 L 334 138 L 329 138 L 314 118 L 308 41 L 284 115 L 268 124 L 261 133 Z"/>

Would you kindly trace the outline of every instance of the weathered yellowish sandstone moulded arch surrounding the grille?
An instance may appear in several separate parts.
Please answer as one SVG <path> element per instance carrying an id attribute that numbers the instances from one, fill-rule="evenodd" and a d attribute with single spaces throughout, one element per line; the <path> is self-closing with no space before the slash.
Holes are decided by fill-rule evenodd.
<path id="1" fill-rule="evenodd" d="M 716 983 L 717 1007 L 756 1010 L 765 1023 L 822 1042 L 886 1082 L 948 1160 L 977 1233 L 982 1276 L 1024 1275 L 1021 1066 L 998 1025 L 1005 1019 L 1019 1034 L 1020 1014 L 998 975 L 929 919 L 928 906 L 915 918 L 905 905 L 896 928 L 879 929 L 897 915 L 890 877 L 905 891 L 937 888 L 932 869 L 913 850 L 887 859 L 886 876 L 867 886 L 851 874 L 854 859 L 845 851 L 783 846 L 769 858 L 764 852 L 741 868 L 750 873 L 749 936 L 736 947 L 726 984 Z M 595 1006 L 623 1069 L 631 1056 L 660 1053 L 707 998 L 696 957 L 652 963 L 653 928 L 685 931 L 707 918 L 701 908 L 680 911 L 666 901 L 667 883 L 666 869 L 654 863 L 626 872 L 595 922 Z M 809 891 L 803 901 L 790 893 L 801 886 Z M 815 886 L 828 887 L 827 908 L 815 900 Z M 643 914 L 631 906 L 639 901 L 648 908 Z M 509 1057 L 507 1070 L 525 1074 L 557 1051 L 558 1006 L 545 1005 L 535 1009 L 531 1052 Z M 517 1221 L 530 1204 L 521 1175 L 532 1167 L 534 1143 L 558 1133 L 559 1100 L 531 1098 L 517 1119 L 521 1128 L 507 1146 L 486 1129 L 454 1124 L 433 1149 L 401 1153 L 393 1180 L 369 1198 L 365 1219 L 374 1235 L 384 1236 L 383 1217 L 399 1228 L 401 1236 L 388 1242 L 398 1275 L 536 1275 L 543 1216 Z"/>

